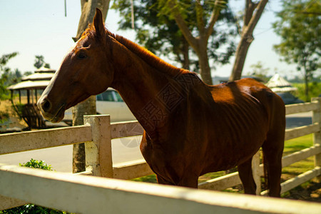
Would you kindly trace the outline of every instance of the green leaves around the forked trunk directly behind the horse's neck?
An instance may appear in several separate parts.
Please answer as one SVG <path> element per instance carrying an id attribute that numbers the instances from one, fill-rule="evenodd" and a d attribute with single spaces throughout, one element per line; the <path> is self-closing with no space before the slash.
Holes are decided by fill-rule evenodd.
<path id="1" fill-rule="evenodd" d="M 204 26 L 208 25 L 210 15 L 214 9 L 213 1 L 206 1 L 200 6 L 198 1 L 176 1 L 180 12 L 189 30 L 197 34 L 198 16 L 202 16 L 205 21 Z M 198 71 L 198 59 L 190 49 L 188 41 L 185 40 L 180 31 L 173 14 L 170 13 L 169 1 L 140 0 L 134 1 L 134 20 L 136 39 L 146 49 L 158 56 L 173 58 L 181 64 L 183 68 L 194 66 Z M 226 2 L 224 3 L 224 5 Z M 120 29 L 131 29 L 131 1 L 114 1 L 113 9 L 117 9 L 123 19 L 119 22 Z M 220 11 L 218 25 L 210 36 L 208 42 L 208 56 L 215 64 L 228 63 L 230 56 L 235 52 L 234 37 L 237 34 L 235 19 L 230 9 L 225 6 Z M 195 35 L 196 37 L 197 35 Z M 220 49 L 220 51 L 218 51 Z"/>

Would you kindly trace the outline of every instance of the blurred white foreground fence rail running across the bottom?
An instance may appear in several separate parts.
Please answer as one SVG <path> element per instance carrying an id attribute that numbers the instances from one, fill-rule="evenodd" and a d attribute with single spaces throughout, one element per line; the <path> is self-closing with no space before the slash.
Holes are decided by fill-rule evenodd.
<path id="1" fill-rule="evenodd" d="M 0 193 L 70 213 L 320 213 L 320 203 L 0 165 Z M 28 183 L 28 185 L 26 185 Z M 7 188 L 10 186 L 11 188 Z M 65 196 L 65 197 L 62 197 Z"/>

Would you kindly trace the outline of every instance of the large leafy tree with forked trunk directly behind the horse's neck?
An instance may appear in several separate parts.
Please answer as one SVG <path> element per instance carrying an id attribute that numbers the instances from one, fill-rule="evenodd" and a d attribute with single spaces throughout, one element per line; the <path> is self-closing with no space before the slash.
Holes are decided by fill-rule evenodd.
<path id="1" fill-rule="evenodd" d="M 203 79 L 210 82 L 208 58 L 217 65 L 228 63 L 233 55 L 237 27 L 226 2 L 141 0 L 134 3 L 136 39 L 154 54 L 173 58 L 183 68 L 193 64 L 196 71 L 200 68 Z M 115 1 L 113 9 L 124 18 L 120 29 L 131 28 L 131 1 Z M 207 75 L 203 75 L 205 68 Z"/>

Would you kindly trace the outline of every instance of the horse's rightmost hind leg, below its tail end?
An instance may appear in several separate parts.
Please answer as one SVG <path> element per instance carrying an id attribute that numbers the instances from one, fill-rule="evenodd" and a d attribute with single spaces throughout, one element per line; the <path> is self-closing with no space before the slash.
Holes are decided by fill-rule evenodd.
<path id="1" fill-rule="evenodd" d="M 262 146 L 269 195 L 272 197 L 280 197 L 283 142 L 280 138 L 277 140 L 275 137 L 268 136 Z"/>

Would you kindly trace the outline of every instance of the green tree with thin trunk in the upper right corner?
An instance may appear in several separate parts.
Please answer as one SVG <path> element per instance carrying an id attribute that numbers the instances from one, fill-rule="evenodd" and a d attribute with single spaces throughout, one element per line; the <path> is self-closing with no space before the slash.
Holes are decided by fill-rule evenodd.
<path id="1" fill-rule="evenodd" d="M 303 71 L 305 94 L 308 97 L 308 81 L 320 68 L 321 54 L 321 4 L 315 0 L 282 1 L 282 11 L 273 24 L 275 33 L 281 37 L 280 44 L 274 46 L 282 60 L 297 64 Z"/>

